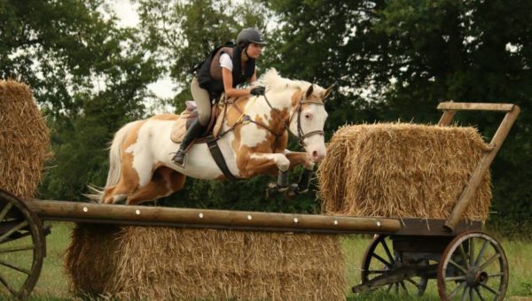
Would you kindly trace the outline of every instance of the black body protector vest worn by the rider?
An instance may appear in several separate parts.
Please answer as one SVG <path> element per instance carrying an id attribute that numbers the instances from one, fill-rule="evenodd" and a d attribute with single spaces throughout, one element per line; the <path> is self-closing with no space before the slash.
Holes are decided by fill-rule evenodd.
<path id="1" fill-rule="evenodd" d="M 198 71 L 198 82 L 200 87 L 206 89 L 211 99 L 218 100 L 223 93 L 222 66 L 220 66 L 220 56 L 227 53 L 232 60 L 233 84 L 236 88 L 242 82 L 248 81 L 254 74 L 255 61 L 250 58 L 242 70 L 241 54 L 242 50 L 238 46 L 221 46 L 211 52 L 211 54 L 201 64 Z"/>

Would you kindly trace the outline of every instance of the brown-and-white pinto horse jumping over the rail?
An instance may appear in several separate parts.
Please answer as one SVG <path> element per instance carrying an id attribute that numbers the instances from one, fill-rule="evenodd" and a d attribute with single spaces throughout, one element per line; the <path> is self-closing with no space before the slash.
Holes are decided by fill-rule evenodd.
<path id="1" fill-rule="evenodd" d="M 232 100 L 223 117 L 218 145 L 226 165 L 236 178 L 258 174 L 286 174 L 302 165 L 311 172 L 325 158 L 324 126 L 327 119 L 324 89 L 308 81 L 281 77 L 275 69 L 258 81 L 264 96 Z M 136 120 L 114 135 L 109 151 L 106 187 L 99 191 L 104 204 L 139 205 L 167 197 L 184 188 L 185 178 L 224 180 L 206 143 L 193 143 L 184 166 L 171 160 L 179 148 L 170 139 L 172 126 L 180 116 L 163 113 Z M 305 152 L 286 150 L 288 132 L 298 138 Z M 308 186 L 308 185 L 307 185 Z M 308 187 L 307 187 L 308 188 Z"/>

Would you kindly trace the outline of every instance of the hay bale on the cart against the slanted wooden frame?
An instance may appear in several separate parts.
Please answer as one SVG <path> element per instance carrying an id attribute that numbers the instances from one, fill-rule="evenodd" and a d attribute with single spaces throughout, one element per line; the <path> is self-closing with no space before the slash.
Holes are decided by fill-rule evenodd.
<path id="1" fill-rule="evenodd" d="M 382 123 L 340 127 L 318 168 L 326 212 L 446 219 L 489 147 L 473 127 Z M 488 218 L 489 172 L 465 211 Z"/>

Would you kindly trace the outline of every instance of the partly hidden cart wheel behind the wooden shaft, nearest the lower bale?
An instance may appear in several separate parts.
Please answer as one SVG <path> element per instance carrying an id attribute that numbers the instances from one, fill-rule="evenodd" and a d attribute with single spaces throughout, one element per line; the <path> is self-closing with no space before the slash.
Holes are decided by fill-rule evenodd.
<path id="1" fill-rule="evenodd" d="M 392 253 L 391 246 L 392 242 L 389 239 L 389 235 L 375 235 L 372 243 L 365 251 L 362 261 L 361 279 L 363 283 L 403 265 L 398 254 L 395 251 Z M 428 266 L 428 261 L 421 260 L 419 265 Z M 415 293 L 417 296 L 423 296 L 427 282 L 427 278 L 416 276 L 401 282 L 387 284 L 384 289 L 387 292 L 394 292 L 395 294 L 403 293 L 410 295 Z"/>

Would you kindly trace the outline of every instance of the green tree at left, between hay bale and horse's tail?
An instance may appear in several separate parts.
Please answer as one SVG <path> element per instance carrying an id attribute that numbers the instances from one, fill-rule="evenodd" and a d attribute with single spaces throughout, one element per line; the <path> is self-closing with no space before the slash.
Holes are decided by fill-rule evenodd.
<path id="1" fill-rule="evenodd" d="M 106 178 L 106 142 L 144 114 L 160 73 L 153 47 L 102 1 L 0 2 L 0 78 L 29 83 L 51 127 L 44 197 L 79 199 Z M 31 156 L 31 150 L 28 150 Z"/>

